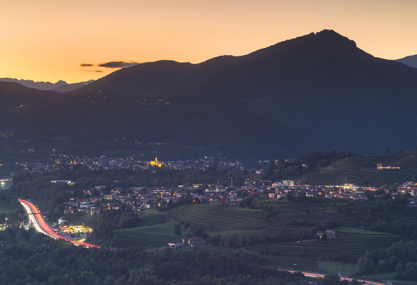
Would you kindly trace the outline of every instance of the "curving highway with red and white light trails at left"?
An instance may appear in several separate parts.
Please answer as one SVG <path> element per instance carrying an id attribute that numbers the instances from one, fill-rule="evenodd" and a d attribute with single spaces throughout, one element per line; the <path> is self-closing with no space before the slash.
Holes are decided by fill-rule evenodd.
<path id="1" fill-rule="evenodd" d="M 36 231 L 38 231 L 39 233 L 43 233 L 44 235 L 49 236 L 50 238 L 54 238 L 56 240 L 65 240 L 67 242 L 71 242 L 72 244 L 81 247 L 100 248 L 98 245 L 91 245 L 86 242 L 78 242 L 77 240 L 72 240 L 71 238 L 61 236 L 59 233 L 56 233 L 47 225 L 42 215 L 40 214 L 40 211 L 38 210 L 38 208 L 36 208 L 35 205 L 33 205 L 33 203 L 22 199 L 19 199 L 19 202 L 22 204 L 24 211 L 28 215 L 31 224 L 33 224 Z"/>

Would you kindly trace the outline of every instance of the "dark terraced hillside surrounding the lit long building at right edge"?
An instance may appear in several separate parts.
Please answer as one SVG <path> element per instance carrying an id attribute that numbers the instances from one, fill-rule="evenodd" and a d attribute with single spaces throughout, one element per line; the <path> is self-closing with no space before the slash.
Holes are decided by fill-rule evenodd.
<path id="1" fill-rule="evenodd" d="M 377 162 L 399 164 L 399 171 L 377 170 Z M 348 157 L 306 174 L 299 183 L 315 185 L 356 183 L 368 181 L 371 185 L 391 185 L 413 180 L 417 175 L 417 153 L 410 151 L 396 155 Z"/>

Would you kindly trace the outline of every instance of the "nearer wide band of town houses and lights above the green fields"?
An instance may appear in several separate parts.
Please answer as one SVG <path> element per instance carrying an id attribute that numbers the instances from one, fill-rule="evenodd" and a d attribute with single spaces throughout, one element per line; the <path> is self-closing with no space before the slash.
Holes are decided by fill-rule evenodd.
<path id="1" fill-rule="evenodd" d="M 72 183 L 70 180 L 56 180 L 58 183 Z M 385 194 L 395 198 L 398 195 L 409 194 L 407 206 L 417 206 L 417 183 L 407 182 L 398 185 L 396 190 L 388 187 L 361 187 L 354 184 L 344 185 L 297 185 L 294 180 L 281 180 L 269 185 L 258 185 L 256 180 L 246 178 L 240 187 L 228 187 L 221 184 L 192 184 L 177 187 L 129 187 L 123 189 L 115 187 L 107 189 L 98 185 L 84 190 L 83 197 L 72 197 L 65 203 L 64 215 L 86 213 L 95 215 L 106 210 L 118 210 L 121 206 L 128 206 L 139 212 L 160 206 L 181 203 L 225 203 L 237 206 L 245 197 L 254 194 L 267 195 L 269 199 L 283 199 L 287 195 L 298 197 L 338 198 L 354 201 L 368 200 L 372 194 L 375 198 Z M 377 191 L 379 190 L 379 191 Z M 69 190 L 68 192 L 72 192 Z"/>

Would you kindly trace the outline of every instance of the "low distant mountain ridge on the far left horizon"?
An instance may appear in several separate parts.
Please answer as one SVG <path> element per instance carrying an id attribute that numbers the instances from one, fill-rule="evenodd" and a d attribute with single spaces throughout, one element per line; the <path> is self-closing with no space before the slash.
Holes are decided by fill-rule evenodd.
<path id="1" fill-rule="evenodd" d="M 26 80 L 26 79 L 15 79 L 15 78 L 0 78 L 0 82 L 15 82 L 18 84 L 22 84 L 25 87 L 38 89 L 38 90 L 52 90 L 56 92 L 68 92 L 73 91 L 74 89 L 80 88 L 81 86 L 85 86 L 94 80 L 89 80 L 86 82 L 79 82 L 79 83 L 70 83 L 63 80 L 59 80 L 58 82 L 51 83 L 51 82 L 34 82 L 33 80 Z"/>

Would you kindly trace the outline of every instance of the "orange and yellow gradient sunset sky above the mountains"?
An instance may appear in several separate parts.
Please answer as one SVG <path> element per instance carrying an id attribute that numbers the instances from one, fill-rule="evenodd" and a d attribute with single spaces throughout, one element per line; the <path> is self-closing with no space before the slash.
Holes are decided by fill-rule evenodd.
<path id="1" fill-rule="evenodd" d="M 1 0 L 0 26 L 0 77 L 36 81 L 116 70 L 81 63 L 198 63 L 322 29 L 385 59 L 417 54 L 416 0 Z"/>

